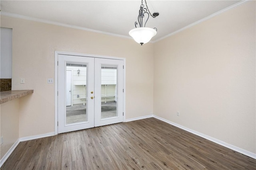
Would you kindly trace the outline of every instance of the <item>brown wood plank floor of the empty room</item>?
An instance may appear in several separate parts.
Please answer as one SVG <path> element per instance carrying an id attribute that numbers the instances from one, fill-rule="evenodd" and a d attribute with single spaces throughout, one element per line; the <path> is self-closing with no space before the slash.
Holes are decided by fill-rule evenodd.
<path id="1" fill-rule="evenodd" d="M 21 142 L 1 170 L 255 170 L 256 160 L 155 118 Z"/>

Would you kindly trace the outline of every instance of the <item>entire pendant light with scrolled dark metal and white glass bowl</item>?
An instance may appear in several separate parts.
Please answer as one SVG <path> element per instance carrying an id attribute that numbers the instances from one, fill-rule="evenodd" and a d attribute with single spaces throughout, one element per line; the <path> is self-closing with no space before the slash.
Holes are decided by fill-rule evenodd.
<path id="1" fill-rule="evenodd" d="M 150 39 L 152 39 L 152 37 L 154 37 L 156 35 L 156 31 L 157 31 L 156 28 L 153 29 L 153 28 L 145 27 L 146 23 L 148 21 L 148 18 L 149 18 L 149 14 L 153 18 L 156 18 L 159 15 L 158 12 L 154 12 L 153 15 L 151 15 L 150 11 L 148 10 L 148 5 L 147 5 L 146 0 L 145 0 L 145 4 L 146 4 L 146 8 L 144 8 L 143 0 L 142 0 L 141 5 L 140 5 L 140 10 L 139 10 L 139 15 L 138 15 L 138 22 L 135 21 L 136 28 L 129 31 L 129 35 L 137 43 L 139 43 L 141 45 L 148 43 L 150 41 Z M 148 14 L 148 18 L 147 18 L 145 24 L 143 25 L 143 18 L 144 18 L 145 14 Z M 137 28 L 138 23 L 139 23 L 140 27 Z"/>

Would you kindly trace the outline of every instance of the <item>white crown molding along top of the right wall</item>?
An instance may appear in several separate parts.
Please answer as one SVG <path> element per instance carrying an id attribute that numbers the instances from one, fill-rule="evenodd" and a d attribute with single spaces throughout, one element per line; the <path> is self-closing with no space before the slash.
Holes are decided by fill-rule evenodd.
<path id="1" fill-rule="evenodd" d="M 202 23 L 202 22 L 204 22 L 204 21 L 210 20 L 211 18 L 213 18 L 213 17 L 215 17 L 215 16 L 218 16 L 218 15 L 224 13 L 224 12 L 227 12 L 228 10 L 231 10 L 231 9 L 233 9 L 233 8 L 236 8 L 236 7 L 238 7 L 238 6 L 241 6 L 241 5 L 243 5 L 243 4 L 246 4 L 247 2 L 250 2 L 250 1 L 253 1 L 253 0 L 242 0 L 242 1 L 236 3 L 236 4 L 232 5 L 232 6 L 229 6 L 229 7 L 227 7 L 227 8 L 224 8 L 223 10 L 220 10 L 220 11 L 214 13 L 214 14 L 211 14 L 210 16 L 207 16 L 207 17 L 205 17 L 205 18 L 203 18 L 203 19 L 201 19 L 201 20 L 198 20 L 198 21 L 196 21 L 196 22 L 194 22 L 194 23 L 191 23 L 190 25 L 187 25 L 187 26 L 185 26 L 185 27 L 183 27 L 183 28 L 181 28 L 181 29 L 178 29 L 177 31 L 174 31 L 174 32 L 172 32 L 172 33 L 170 33 L 170 34 L 168 34 L 168 35 L 165 35 L 164 37 L 161 37 L 161 38 L 159 38 L 159 39 L 156 39 L 155 41 L 152 41 L 152 43 L 156 43 L 156 42 L 158 42 L 158 41 L 160 41 L 160 40 L 162 40 L 162 39 L 166 39 L 167 37 L 170 37 L 170 36 L 172 36 L 172 35 L 174 35 L 174 34 L 176 34 L 176 33 L 179 33 L 179 32 L 181 32 L 181 31 L 184 31 L 185 29 L 188 29 L 188 28 L 190 28 L 190 27 L 193 27 L 194 25 L 197 25 L 197 24 Z"/>

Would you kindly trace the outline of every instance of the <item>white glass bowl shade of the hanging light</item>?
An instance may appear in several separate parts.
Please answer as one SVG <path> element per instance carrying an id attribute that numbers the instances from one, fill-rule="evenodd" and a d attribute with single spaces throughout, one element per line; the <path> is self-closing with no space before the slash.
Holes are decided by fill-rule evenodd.
<path id="1" fill-rule="evenodd" d="M 146 44 L 156 35 L 156 30 L 148 27 L 134 28 L 129 35 L 139 44 Z"/>

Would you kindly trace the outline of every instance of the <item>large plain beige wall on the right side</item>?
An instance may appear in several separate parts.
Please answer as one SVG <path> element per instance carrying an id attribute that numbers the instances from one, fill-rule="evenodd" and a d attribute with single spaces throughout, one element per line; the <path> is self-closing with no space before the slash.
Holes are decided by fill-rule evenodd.
<path id="1" fill-rule="evenodd" d="M 154 114 L 256 153 L 255 23 L 253 1 L 155 43 Z"/>

